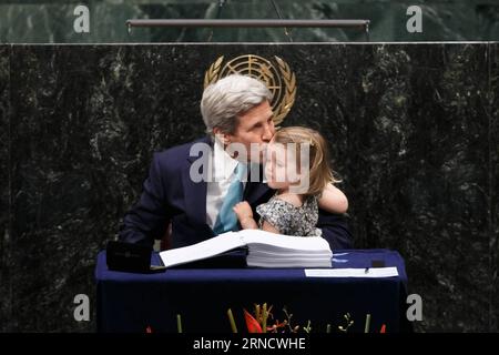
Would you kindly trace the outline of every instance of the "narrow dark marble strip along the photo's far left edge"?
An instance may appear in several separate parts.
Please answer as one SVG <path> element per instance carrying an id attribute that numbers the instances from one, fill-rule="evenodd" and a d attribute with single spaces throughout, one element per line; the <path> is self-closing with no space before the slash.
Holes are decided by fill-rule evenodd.
<path id="1" fill-rule="evenodd" d="M 10 144 L 10 47 L 0 47 L 0 320 L 9 320 L 11 312 L 9 231 L 9 144 Z M 8 329 L 0 322 L 0 332 Z"/>

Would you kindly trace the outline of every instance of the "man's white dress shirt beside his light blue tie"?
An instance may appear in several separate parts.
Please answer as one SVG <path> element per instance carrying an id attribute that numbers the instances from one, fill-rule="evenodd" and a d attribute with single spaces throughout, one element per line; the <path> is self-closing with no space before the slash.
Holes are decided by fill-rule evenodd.
<path id="1" fill-rule="evenodd" d="M 228 186 L 233 181 L 237 160 L 231 158 L 225 152 L 222 143 L 215 139 L 213 144 L 213 174 L 212 180 L 207 182 L 206 189 L 206 224 L 213 230 L 218 212 L 227 194 Z M 243 182 L 243 186 L 245 183 Z"/>

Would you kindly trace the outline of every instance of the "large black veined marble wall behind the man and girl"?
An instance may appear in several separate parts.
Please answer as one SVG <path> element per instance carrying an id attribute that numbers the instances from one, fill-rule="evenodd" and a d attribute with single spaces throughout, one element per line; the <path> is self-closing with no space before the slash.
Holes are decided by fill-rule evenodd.
<path id="1" fill-rule="evenodd" d="M 283 125 L 330 142 L 355 244 L 406 258 L 417 329 L 497 331 L 496 44 L 14 47 L 10 328 L 93 329 L 72 300 L 95 305 L 96 251 L 152 152 L 203 133 L 204 70 L 243 53 L 295 71 Z"/>

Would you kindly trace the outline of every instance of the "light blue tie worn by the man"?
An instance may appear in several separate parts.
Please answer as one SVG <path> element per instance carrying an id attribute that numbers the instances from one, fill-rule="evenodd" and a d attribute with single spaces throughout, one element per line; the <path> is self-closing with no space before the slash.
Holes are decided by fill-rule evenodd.
<path id="1" fill-rule="evenodd" d="M 246 165 L 238 163 L 235 169 L 233 181 L 228 186 L 227 195 L 225 196 L 222 207 L 220 209 L 218 216 L 216 217 L 215 226 L 213 227 L 215 235 L 230 231 L 238 231 L 237 216 L 232 209 L 237 202 L 243 201 L 242 180 L 245 172 Z"/>

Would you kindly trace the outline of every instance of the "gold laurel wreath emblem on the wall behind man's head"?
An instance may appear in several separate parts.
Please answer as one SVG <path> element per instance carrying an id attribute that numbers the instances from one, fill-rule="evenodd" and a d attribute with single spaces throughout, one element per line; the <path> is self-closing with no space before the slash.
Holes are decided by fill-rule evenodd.
<path id="1" fill-rule="evenodd" d="M 255 58 L 261 59 L 263 62 L 265 62 L 266 65 L 268 65 L 271 69 L 275 70 L 275 67 L 273 65 L 273 63 L 262 57 L 257 57 L 255 54 L 246 54 L 246 55 L 241 55 L 237 57 L 233 60 L 230 60 L 226 62 L 225 65 L 222 65 L 224 63 L 224 57 L 221 55 L 218 57 L 208 68 L 208 70 L 206 70 L 205 74 L 204 74 L 204 88 L 206 88 L 207 85 L 210 85 L 211 83 L 216 82 L 218 79 L 222 79 L 223 77 L 230 74 L 230 73 L 242 73 L 242 74 L 247 74 L 244 73 L 243 71 L 247 71 L 247 65 L 246 67 L 242 67 L 243 69 L 240 68 L 234 68 L 231 67 L 230 63 L 233 62 L 234 60 L 240 60 L 243 61 L 246 60 L 247 63 L 251 63 L 252 60 L 254 61 Z M 295 98 L 296 98 L 296 75 L 295 73 L 291 70 L 289 65 L 281 58 L 278 58 L 277 55 L 274 55 L 275 59 L 275 63 L 277 64 L 277 69 L 276 73 L 278 73 L 279 79 L 278 80 L 278 90 L 275 91 L 278 94 L 274 94 L 274 98 L 272 99 L 271 105 L 272 109 L 274 111 L 274 124 L 278 125 L 279 123 L 282 123 L 284 121 L 284 119 L 286 118 L 286 115 L 289 113 L 293 104 L 295 103 Z M 227 68 L 228 65 L 228 68 Z M 254 77 L 256 79 L 268 79 L 272 77 L 272 73 L 269 74 L 268 69 L 266 71 L 262 71 L 262 70 L 257 70 L 257 69 L 253 69 L 253 72 L 249 71 L 249 75 Z M 264 80 L 266 81 L 266 80 Z M 275 89 L 275 88 L 274 88 Z"/>

